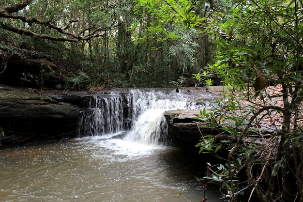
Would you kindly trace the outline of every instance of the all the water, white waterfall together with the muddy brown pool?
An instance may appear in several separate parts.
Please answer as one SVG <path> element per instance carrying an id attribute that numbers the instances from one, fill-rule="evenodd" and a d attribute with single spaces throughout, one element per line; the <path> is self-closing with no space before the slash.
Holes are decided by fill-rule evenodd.
<path id="1" fill-rule="evenodd" d="M 204 194 L 219 202 L 215 189 L 204 192 L 196 178 L 203 168 L 184 149 L 161 141 L 165 110 L 212 106 L 213 95 L 195 96 L 130 90 L 126 118 L 133 124 L 124 131 L 121 93 L 93 95 L 91 114 L 78 123 L 79 137 L 90 137 L 0 150 L 0 202 L 201 202 Z M 206 102 L 195 101 L 200 97 Z M 186 199 L 176 196 L 182 190 Z"/>

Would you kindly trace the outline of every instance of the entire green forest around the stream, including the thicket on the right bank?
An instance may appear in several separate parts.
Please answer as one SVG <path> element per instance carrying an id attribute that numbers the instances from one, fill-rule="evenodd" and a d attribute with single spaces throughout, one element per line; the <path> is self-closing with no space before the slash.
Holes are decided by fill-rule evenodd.
<path id="1" fill-rule="evenodd" d="M 221 108 L 197 120 L 207 117 L 233 138 L 197 144 L 200 153 L 228 151 L 202 180 L 219 184 L 228 201 L 303 202 L 302 0 L 0 3 L 0 83 L 225 85 Z"/>

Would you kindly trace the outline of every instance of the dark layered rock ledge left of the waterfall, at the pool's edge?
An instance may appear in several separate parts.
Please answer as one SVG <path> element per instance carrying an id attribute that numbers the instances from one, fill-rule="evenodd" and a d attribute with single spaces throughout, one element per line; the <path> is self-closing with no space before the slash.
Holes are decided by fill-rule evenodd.
<path id="1" fill-rule="evenodd" d="M 84 109 L 71 101 L 0 87 L 0 147 L 75 137 Z"/>

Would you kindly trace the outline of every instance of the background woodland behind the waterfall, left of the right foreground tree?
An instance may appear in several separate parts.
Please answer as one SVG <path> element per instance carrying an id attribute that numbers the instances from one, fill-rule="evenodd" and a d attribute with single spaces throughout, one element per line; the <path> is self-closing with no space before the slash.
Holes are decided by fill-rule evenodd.
<path id="1" fill-rule="evenodd" d="M 192 73 L 211 62 L 214 46 L 194 29 L 202 20 L 189 1 L 173 2 L 1 0 L 1 49 L 38 51 L 76 65 L 68 87 L 195 85 Z"/>

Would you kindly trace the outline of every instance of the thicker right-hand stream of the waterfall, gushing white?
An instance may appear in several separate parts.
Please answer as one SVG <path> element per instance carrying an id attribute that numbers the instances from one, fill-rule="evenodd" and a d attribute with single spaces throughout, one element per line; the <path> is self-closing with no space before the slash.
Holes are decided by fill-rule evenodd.
<path id="1" fill-rule="evenodd" d="M 167 123 L 164 112 L 172 109 L 187 109 L 188 96 L 175 91 L 142 91 L 130 90 L 128 100 L 131 100 L 133 110 L 130 117 L 134 124 L 124 140 L 138 142 L 144 145 L 157 146 L 159 140 L 165 140 Z"/>

